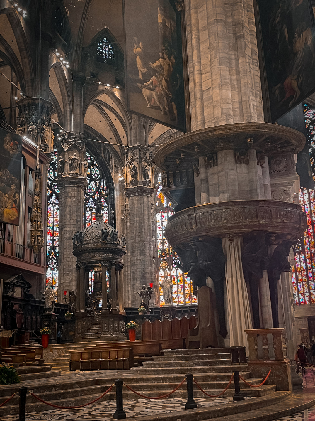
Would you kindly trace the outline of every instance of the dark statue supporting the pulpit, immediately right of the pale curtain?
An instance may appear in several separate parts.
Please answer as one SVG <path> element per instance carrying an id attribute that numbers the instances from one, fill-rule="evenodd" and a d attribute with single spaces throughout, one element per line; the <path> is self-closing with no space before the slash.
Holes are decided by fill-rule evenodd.
<path id="1" fill-rule="evenodd" d="M 244 278 L 250 289 L 254 319 L 253 328 L 260 329 L 259 281 L 263 277 L 264 270 L 268 268 L 268 251 L 263 232 L 258 232 L 255 239 L 244 246 L 241 259 Z"/>

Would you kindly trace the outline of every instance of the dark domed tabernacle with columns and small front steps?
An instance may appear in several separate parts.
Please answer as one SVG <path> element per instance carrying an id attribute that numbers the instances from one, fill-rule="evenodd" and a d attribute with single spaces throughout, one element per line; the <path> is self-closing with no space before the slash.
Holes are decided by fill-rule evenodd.
<path id="1" fill-rule="evenodd" d="M 125 245 L 118 231 L 103 222 L 73 236 L 76 256 L 76 341 L 125 340 L 123 256 Z"/>

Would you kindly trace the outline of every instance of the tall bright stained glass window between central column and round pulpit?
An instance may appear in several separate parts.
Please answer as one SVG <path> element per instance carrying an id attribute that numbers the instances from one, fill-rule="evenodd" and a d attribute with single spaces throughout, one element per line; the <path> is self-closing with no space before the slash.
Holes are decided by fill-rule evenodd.
<path id="1" fill-rule="evenodd" d="M 172 302 L 173 305 L 196 304 L 197 298 L 193 294 L 192 281 L 179 269 L 179 259 L 171 245 L 165 238 L 164 230 L 168 223 L 168 218 L 173 215 L 174 210 L 170 202 L 161 192 L 162 177 L 161 174 L 157 179 L 156 193 L 156 231 L 157 231 L 157 267 L 158 278 L 160 284 L 160 305 L 165 304 L 163 297 L 163 288 L 161 283 L 165 277 L 169 277 L 173 284 Z"/>

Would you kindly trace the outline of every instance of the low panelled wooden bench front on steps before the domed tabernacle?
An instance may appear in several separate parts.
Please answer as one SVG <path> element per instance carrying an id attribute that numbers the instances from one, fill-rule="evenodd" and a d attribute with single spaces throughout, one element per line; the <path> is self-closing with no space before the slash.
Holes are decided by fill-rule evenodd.
<path id="1" fill-rule="evenodd" d="M 133 365 L 132 348 L 95 349 L 71 352 L 69 370 L 129 370 Z"/>

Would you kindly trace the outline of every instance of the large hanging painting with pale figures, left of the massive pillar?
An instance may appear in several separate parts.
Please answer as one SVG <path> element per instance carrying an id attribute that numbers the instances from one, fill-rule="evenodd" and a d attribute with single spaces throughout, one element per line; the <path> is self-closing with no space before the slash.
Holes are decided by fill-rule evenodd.
<path id="1" fill-rule="evenodd" d="M 186 131 L 180 16 L 173 0 L 124 0 L 127 108 Z"/>

